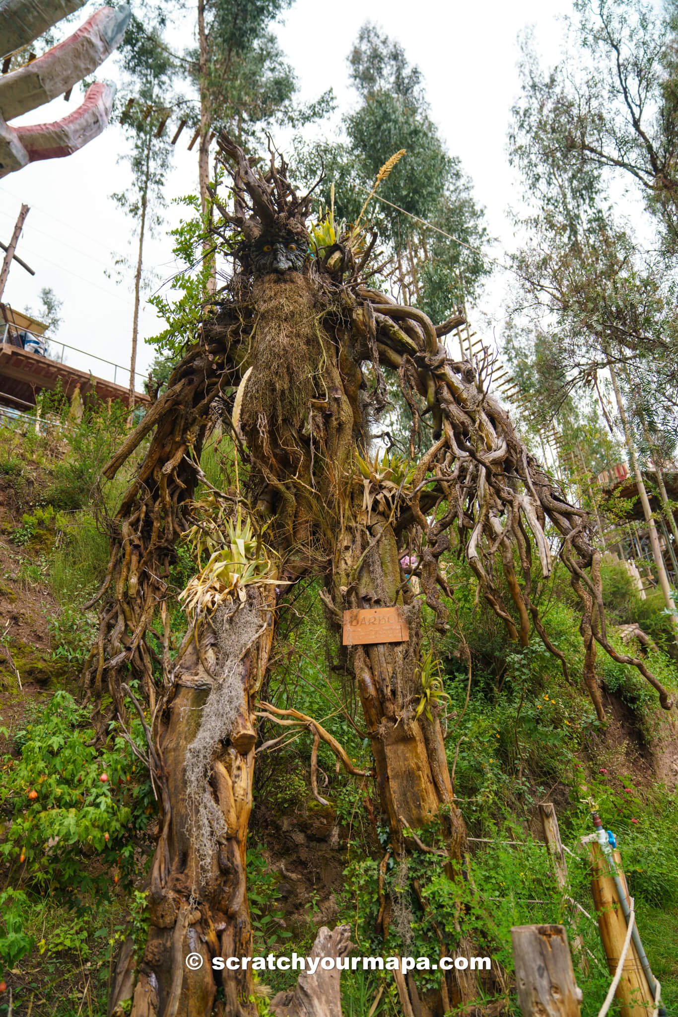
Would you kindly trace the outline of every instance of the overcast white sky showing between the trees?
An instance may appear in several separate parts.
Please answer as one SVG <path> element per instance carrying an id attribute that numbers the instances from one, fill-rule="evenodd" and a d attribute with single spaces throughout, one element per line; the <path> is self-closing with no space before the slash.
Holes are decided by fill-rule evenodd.
<path id="1" fill-rule="evenodd" d="M 563 38 L 559 17 L 570 10 L 569 0 L 486 0 L 482 4 L 343 0 L 341 5 L 296 0 L 278 31 L 299 77 L 301 99 L 313 99 L 331 86 L 340 112 L 355 102 L 347 86 L 346 57 L 361 24 L 372 20 L 403 44 L 410 61 L 424 71 L 433 119 L 449 152 L 460 158 L 474 182 L 477 200 L 487 211 L 490 233 L 499 240 L 495 253 L 500 255 L 512 246 L 505 213 L 516 200 L 516 181 L 506 158 L 506 131 L 518 94 L 517 37 L 533 26 L 544 60 L 552 63 L 558 59 Z M 89 6 L 82 19 L 88 12 Z M 100 76 L 112 72 L 107 63 Z M 74 89 L 68 104 L 57 99 L 39 115 L 34 112 L 26 117 L 26 122 L 59 119 L 80 99 Z M 322 129 L 322 125 L 312 128 Z M 167 188 L 170 197 L 196 190 L 196 149 L 187 152 L 187 133 L 176 146 Z M 286 137 L 279 140 L 285 144 Z M 126 167 L 118 163 L 123 148 L 119 129 L 111 126 L 67 159 L 37 163 L 5 177 L 0 181 L 0 238 L 7 242 L 21 201 L 28 204 L 17 253 L 36 270 L 36 276 L 29 277 L 14 262 L 4 299 L 18 310 L 35 310 L 40 289 L 51 287 L 63 301 L 56 341 L 125 365 L 131 349 L 131 274 L 121 285 L 105 275 L 116 255 L 134 257 L 134 224 L 110 198 L 128 180 Z M 384 153 L 384 158 L 388 155 Z M 168 228 L 178 216 L 176 207 L 168 211 Z M 176 271 L 171 248 L 164 231 L 148 244 L 146 263 L 156 267 L 161 280 Z M 477 308 L 478 316 L 482 313 L 489 319 L 489 331 L 496 330 L 497 338 L 504 288 L 500 276 L 489 284 Z M 140 328 L 142 338 L 160 331 L 152 307 L 143 309 Z M 141 344 L 137 370 L 145 372 L 153 355 L 152 348 Z M 67 351 L 65 359 L 96 374 L 112 376 L 109 369 L 80 355 Z M 121 380 L 126 383 L 126 378 Z"/>

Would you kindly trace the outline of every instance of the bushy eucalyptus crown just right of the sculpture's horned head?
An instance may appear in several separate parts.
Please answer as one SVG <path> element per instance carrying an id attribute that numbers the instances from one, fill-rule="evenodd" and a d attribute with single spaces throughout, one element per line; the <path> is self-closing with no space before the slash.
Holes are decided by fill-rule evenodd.
<path id="1" fill-rule="evenodd" d="M 403 47 L 364 24 L 349 74 L 358 106 L 344 118 L 345 138 L 307 149 L 306 175 L 310 182 L 323 168 L 324 204 L 332 203 L 333 185 L 335 218 L 355 222 L 379 169 L 405 149 L 380 184 L 370 220 L 393 257 L 403 299 L 442 320 L 477 294 L 487 273 L 482 210 L 431 119 L 424 76 Z"/>

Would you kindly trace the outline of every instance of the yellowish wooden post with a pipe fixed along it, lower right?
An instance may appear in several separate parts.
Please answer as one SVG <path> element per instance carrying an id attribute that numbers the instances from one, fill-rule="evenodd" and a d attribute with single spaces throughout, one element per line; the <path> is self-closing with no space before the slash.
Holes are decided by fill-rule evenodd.
<path id="1" fill-rule="evenodd" d="M 598 928 L 610 974 L 614 974 L 626 936 L 626 918 L 621 909 L 619 894 L 610 872 L 610 865 L 600 844 L 597 841 L 589 841 L 589 850 L 593 868 L 591 890 L 598 914 Z M 612 856 L 628 900 L 628 887 L 621 866 L 621 855 L 619 851 L 615 850 L 612 852 Z M 631 940 L 626 954 L 621 980 L 615 995 L 621 1004 L 621 1017 L 652 1017 L 655 1011 L 653 994 L 650 991 L 633 940 Z"/>

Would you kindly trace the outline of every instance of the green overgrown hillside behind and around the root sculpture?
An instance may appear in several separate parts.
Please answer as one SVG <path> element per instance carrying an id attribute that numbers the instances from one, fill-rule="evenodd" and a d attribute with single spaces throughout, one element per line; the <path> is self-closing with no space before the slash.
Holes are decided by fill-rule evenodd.
<path id="1" fill-rule="evenodd" d="M 98 635 L 96 605 L 85 605 L 105 576 L 107 528 L 124 486 L 123 477 L 102 489 L 98 477 L 123 433 L 124 413 L 102 406 L 77 421 L 66 408 L 59 419 L 42 435 L 0 428 L 0 1014 L 9 1014 L 11 992 L 14 1015 L 99 1017 L 130 914 L 134 941 L 143 942 L 158 809 L 137 755 L 140 722 L 128 719 L 124 729 L 114 723 L 102 736 L 78 680 Z M 212 480 L 221 455 L 214 442 L 203 453 Z M 176 593 L 191 567 L 180 548 L 170 577 Z M 454 557 L 445 567 L 453 623 L 439 635 L 425 617 L 444 687 L 435 707 L 472 838 L 467 925 L 499 971 L 488 994 L 513 1005 L 511 925 L 562 922 L 583 938 L 583 1013 L 598 1013 L 610 977 L 597 925 L 558 892 L 537 809 L 554 802 L 571 852 L 569 895 L 591 915 L 579 838 L 592 829 L 585 799 L 593 797 L 617 836 L 665 1005 L 678 1008 L 674 714 L 658 709 L 637 673 L 600 654 L 608 719 L 596 719 L 580 679 L 577 608 L 558 569 L 536 599 L 570 680 L 541 643 L 520 650 L 507 641 Z M 614 562 L 605 569 L 610 622 L 641 624 L 653 639 L 652 669 L 675 691 L 670 634 L 656 601 L 639 601 Z M 286 604 L 263 698 L 316 718 L 369 770 L 356 695 L 318 584 L 295 587 Z M 178 645 L 184 619 L 176 600 L 171 623 Z M 613 629 L 615 641 L 622 645 Z M 280 733 L 262 721 L 259 743 Z M 303 953 L 320 924 L 349 921 L 360 954 L 436 956 L 440 931 L 453 939 L 459 913 L 442 859 L 420 850 L 408 863 L 394 862 L 372 779 L 337 774 L 324 745 L 318 791 L 326 803 L 314 798 L 311 749 L 311 736 L 297 733 L 257 758 L 248 851 L 256 950 Z M 435 831 L 425 836 L 434 848 Z M 380 864 L 390 902 L 380 916 L 383 936 Z M 259 985 L 262 1014 L 267 997 L 290 981 L 283 972 L 267 974 Z M 346 976 L 343 986 L 347 1017 L 365 1017 L 377 997 L 373 1014 L 399 1013 L 384 974 Z"/>

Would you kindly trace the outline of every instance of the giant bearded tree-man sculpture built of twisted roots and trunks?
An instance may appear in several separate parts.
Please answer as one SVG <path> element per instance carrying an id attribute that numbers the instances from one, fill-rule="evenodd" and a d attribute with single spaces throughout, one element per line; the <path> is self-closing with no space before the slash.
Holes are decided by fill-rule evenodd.
<path id="1" fill-rule="evenodd" d="M 316 751 L 326 734 L 295 710 L 281 717 L 269 704 L 257 707 L 286 585 L 323 577 L 332 620 L 346 609 L 376 606 L 395 607 L 407 617 L 409 643 L 355 647 L 349 662 L 392 851 L 402 856 L 413 843 L 411 832 L 439 819 L 450 879 L 460 879 L 468 866 L 466 828 L 436 711 L 417 713 L 421 601 L 400 564 L 406 553 L 417 555 L 425 599 L 440 629 L 447 624 L 441 594 L 453 598 L 440 559 L 452 553 L 466 559 L 509 638 L 526 646 L 534 630 L 567 675 L 533 591 L 534 564 L 546 578 L 559 556 L 581 603 L 584 680 L 599 716 L 597 644 L 635 666 L 662 705 L 671 705 L 644 661 L 611 647 L 600 555 L 587 516 L 529 454 L 474 366 L 448 356 L 440 340 L 449 322 L 436 326 L 422 311 L 364 285 L 365 256 L 356 255 L 352 235 L 300 259 L 299 245 L 309 247 L 309 195 L 297 195 L 284 163 L 271 159 L 261 173 L 228 136 L 220 145 L 235 197 L 227 208 L 213 195 L 224 220 L 214 232 L 233 258 L 233 276 L 211 298 L 167 393 L 104 471 L 113 477 L 147 442 L 112 527 L 99 638 L 84 670 L 98 709 L 121 721 L 129 676 L 139 680 L 145 759 L 161 804 L 151 928 L 132 1017 L 253 1014 L 249 975 L 218 975 L 208 963 L 190 972 L 182 955 L 194 948 L 208 961 L 217 952 L 249 950 L 245 846 L 257 710 L 308 726 Z M 432 422 L 430 446 L 399 473 L 393 462 L 372 466 L 367 457 L 370 415 L 383 403 L 382 370 L 396 373 L 414 432 L 424 431 L 429 415 Z M 228 491 L 213 491 L 199 468 L 211 428 L 231 437 L 245 468 L 242 484 Z M 218 608 L 192 618 L 173 659 L 168 600 L 178 593 L 170 587 L 174 548 L 191 528 L 209 529 L 192 500 L 198 481 L 232 525 L 237 519 L 259 541 L 265 528 L 278 585 L 270 579 L 245 583 L 245 566 L 257 562 L 240 561 L 243 596 L 227 596 L 227 587 L 217 583 Z M 341 758 L 341 746 L 332 747 Z M 464 977 L 443 982 L 440 1006 L 474 997 L 475 983 Z M 221 986 L 226 1006 L 215 1002 Z M 414 1005 L 414 979 L 407 992 Z M 112 1003 L 120 1007 L 125 993 L 129 999 L 123 964 Z M 298 986 L 291 1000 L 279 1001 L 279 1012 L 333 1017 L 336 986 L 327 992 L 324 1010 L 312 997 L 308 986 Z M 417 1006 L 425 1012 L 421 1001 Z M 434 1006 L 429 1012 L 438 1011 Z"/>

